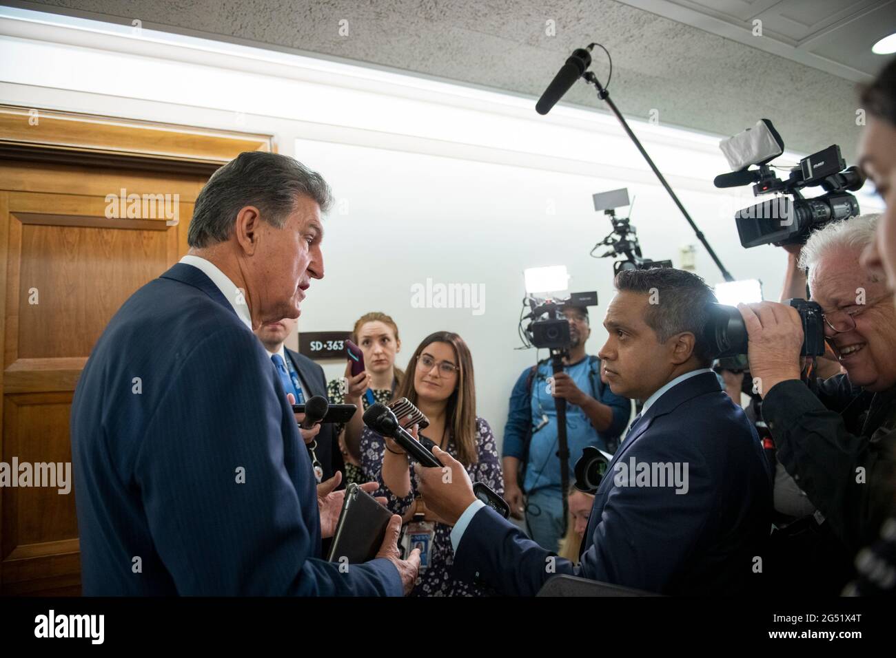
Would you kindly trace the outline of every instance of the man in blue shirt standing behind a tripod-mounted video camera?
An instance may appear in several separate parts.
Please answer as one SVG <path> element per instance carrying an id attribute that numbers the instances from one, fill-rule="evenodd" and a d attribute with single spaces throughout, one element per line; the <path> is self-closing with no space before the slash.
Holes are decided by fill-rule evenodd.
<path id="1" fill-rule="evenodd" d="M 548 551 L 557 550 L 564 527 L 555 398 L 567 402 L 571 479 L 582 449 L 614 450 L 631 414 L 628 398 L 617 396 L 600 380 L 599 359 L 585 354 L 591 334 L 588 309 L 566 306 L 564 315 L 573 340 L 564 372 L 555 377 L 550 359 L 523 371 L 513 387 L 504 426 L 504 498 L 513 517 L 522 518 L 525 510 L 530 537 Z M 528 494 L 525 500 L 523 492 Z"/>

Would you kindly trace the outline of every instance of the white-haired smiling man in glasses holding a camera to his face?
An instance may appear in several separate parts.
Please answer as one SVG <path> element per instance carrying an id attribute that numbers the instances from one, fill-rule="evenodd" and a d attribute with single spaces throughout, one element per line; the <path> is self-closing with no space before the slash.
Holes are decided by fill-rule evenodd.
<path id="1" fill-rule="evenodd" d="M 853 554 L 892 511 L 896 446 L 896 310 L 886 282 L 858 267 L 877 216 L 815 232 L 799 267 L 808 269 L 824 336 L 845 374 L 801 380 L 804 330 L 791 306 L 740 304 L 750 370 L 780 463 L 806 491 L 831 532 Z"/>

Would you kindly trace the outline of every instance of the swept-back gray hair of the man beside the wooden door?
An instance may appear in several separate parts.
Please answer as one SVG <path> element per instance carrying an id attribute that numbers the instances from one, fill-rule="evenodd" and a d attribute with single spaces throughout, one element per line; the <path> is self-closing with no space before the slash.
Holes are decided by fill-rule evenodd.
<path id="1" fill-rule="evenodd" d="M 186 243 L 201 249 L 233 234 L 237 212 L 255 206 L 262 219 L 282 228 L 301 196 L 317 202 L 321 212 L 332 205 L 323 176 L 279 153 L 246 151 L 211 175 L 196 197 Z"/>

